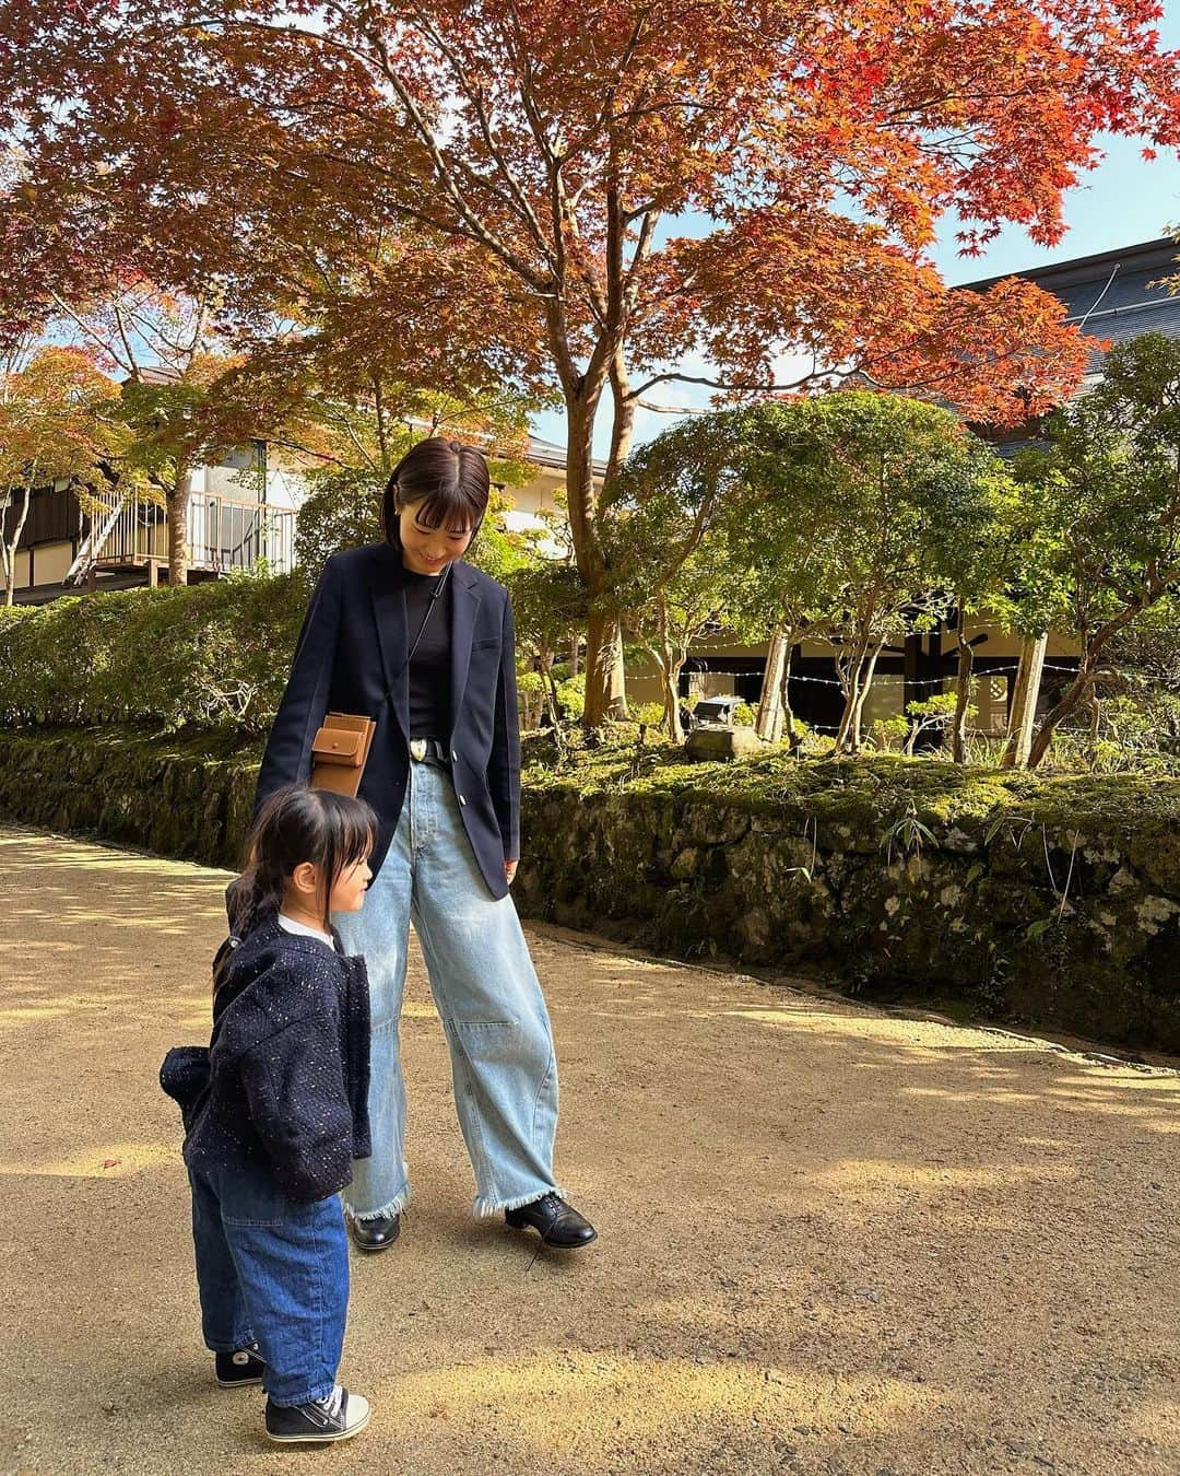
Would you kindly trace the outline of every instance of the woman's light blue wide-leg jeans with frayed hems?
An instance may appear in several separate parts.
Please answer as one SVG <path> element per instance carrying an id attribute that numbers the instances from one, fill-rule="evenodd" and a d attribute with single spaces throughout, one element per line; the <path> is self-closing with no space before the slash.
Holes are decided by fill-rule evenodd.
<path id="1" fill-rule="evenodd" d="M 373 1156 L 353 1165 L 344 1196 L 350 1215 L 394 1215 L 410 1197 L 398 1033 L 410 921 L 450 1046 L 475 1213 L 560 1193 L 553 1179 L 558 1063 L 549 1011 L 516 906 L 488 890 L 442 769 L 410 763 L 397 831 L 364 906 L 332 921 L 345 951 L 364 955 L 373 1030 Z"/>

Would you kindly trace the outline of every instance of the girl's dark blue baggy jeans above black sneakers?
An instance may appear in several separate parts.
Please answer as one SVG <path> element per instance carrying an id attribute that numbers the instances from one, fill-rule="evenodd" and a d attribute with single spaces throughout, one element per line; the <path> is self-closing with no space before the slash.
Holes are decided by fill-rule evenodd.
<path id="1" fill-rule="evenodd" d="M 338 1196 L 288 1199 L 263 1169 L 189 1169 L 205 1346 L 258 1343 L 274 1404 L 326 1399 L 348 1314 L 348 1237 Z"/>

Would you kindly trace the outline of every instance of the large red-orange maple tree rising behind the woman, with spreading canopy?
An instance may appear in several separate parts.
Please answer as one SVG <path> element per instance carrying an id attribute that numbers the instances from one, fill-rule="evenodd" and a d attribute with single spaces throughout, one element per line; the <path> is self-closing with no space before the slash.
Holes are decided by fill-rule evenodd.
<path id="1" fill-rule="evenodd" d="M 935 226 L 1062 232 L 1097 134 L 1174 146 L 1153 0 L 37 0 L 0 4 L 0 319 L 136 263 L 242 319 L 307 294 L 403 365 L 558 393 L 586 719 L 624 710 L 609 477 L 636 410 L 867 382 L 974 419 L 1061 403 L 1084 345 L 1031 283 L 948 291 Z M 375 251 L 378 238 L 388 257 Z M 354 275 L 360 255 L 367 276 Z M 370 311 L 372 304 L 372 311 Z M 298 317 L 302 308 L 296 310 Z M 354 339 L 355 342 L 357 339 Z"/>

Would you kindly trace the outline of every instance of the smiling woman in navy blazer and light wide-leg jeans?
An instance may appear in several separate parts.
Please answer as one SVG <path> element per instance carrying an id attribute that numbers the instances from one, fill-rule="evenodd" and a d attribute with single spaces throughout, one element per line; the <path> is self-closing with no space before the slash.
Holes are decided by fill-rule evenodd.
<path id="1" fill-rule="evenodd" d="M 327 711 L 376 719 L 360 787 L 381 821 L 373 880 L 360 912 L 333 918 L 372 992 L 373 1154 L 354 1165 L 345 1200 L 363 1250 L 397 1240 L 410 1197 L 398 1021 L 412 920 L 451 1052 L 475 1213 L 503 1210 L 562 1249 L 596 1238 L 553 1178 L 553 1038 L 509 896 L 521 855 L 512 607 L 462 558 L 488 490 L 487 462 L 457 441 L 432 437 L 401 459 L 385 542 L 324 565 L 258 776 L 255 810 L 307 782 Z"/>

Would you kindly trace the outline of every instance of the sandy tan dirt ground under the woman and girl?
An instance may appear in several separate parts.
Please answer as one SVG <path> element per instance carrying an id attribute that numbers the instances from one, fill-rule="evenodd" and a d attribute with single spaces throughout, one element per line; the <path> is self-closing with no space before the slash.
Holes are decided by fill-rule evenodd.
<path id="1" fill-rule="evenodd" d="M 165 1049 L 226 874 L 0 830 L 9 1473 L 1180 1472 L 1180 1076 L 530 939 L 589 1250 L 471 1218 L 438 1020 L 416 1199 L 354 1261 L 370 1429 L 260 1435 L 198 1336 Z"/>

